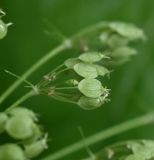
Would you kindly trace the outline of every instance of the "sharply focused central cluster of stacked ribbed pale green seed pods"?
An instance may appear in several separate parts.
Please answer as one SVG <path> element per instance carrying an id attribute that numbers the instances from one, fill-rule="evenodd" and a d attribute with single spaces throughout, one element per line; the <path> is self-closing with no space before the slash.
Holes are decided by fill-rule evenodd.
<path id="1" fill-rule="evenodd" d="M 108 57 L 100 52 L 84 52 L 78 58 L 68 59 L 64 63 L 82 78 L 77 84 L 82 94 L 77 104 L 83 109 L 95 109 L 107 101 L 109 90 L 102 85 L 100 80 L 96 79 L 98 76 L 110 74 L 107 68 L 96 64 L 105 58 Z"/>

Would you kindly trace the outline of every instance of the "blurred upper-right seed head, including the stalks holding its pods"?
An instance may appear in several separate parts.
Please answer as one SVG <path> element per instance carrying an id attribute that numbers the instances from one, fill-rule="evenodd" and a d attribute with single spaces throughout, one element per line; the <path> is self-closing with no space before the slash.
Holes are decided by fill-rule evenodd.
<path id="1" fill-rule="evenodd" d="M 96 25 L 97 26 L 97 25 Z M 130 23 L 101 22 L 89 32 L 74 39 L 76 48 L 89 50 L 107 50 L 110 57 L 106 64 L 121 65 L 136 55 L 136 49 L 129 46 L 130 42 L 146 40 L 144 32 Z"/>

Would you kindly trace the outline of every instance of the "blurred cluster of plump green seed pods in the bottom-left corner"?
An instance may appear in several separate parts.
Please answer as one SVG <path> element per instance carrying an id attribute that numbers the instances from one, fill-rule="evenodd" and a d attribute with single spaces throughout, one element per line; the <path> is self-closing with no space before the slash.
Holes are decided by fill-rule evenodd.
<path id="1" fill-rule="evenodd" d="M 0 145 L 0 159 L 28 160 L 47 148 L 47 136 L 37 124 L 36 114 L 26 108 L 0 113 L 0 133 L 6 132 L 18 144 Z"/>

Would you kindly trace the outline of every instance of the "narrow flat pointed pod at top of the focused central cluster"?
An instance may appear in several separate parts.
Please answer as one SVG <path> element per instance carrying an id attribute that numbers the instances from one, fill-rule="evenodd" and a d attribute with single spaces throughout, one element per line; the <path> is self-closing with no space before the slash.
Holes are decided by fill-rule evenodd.
<path id="1" fill-rule="evenodd" d="M 105 55 L 100 52 L 85 52 L 79 56 L 79 59 L 83 62 L 94 63 L 100 61 L 104 57 Z"/>

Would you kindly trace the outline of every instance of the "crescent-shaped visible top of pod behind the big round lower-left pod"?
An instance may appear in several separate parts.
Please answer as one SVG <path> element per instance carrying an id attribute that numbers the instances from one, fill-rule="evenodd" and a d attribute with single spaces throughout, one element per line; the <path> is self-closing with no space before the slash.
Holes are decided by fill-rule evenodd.
<path id="1" fill-rule="evenodd" d="M 34 121 L 38 121 L 38 118 L 33 111 L 31 111 L 27 108 L 23 108 L 23 107 L 14 108 L 9 111 L 9 114 L 12 116 L 18 116 L 18 115 L 19 116 L 28 116 L 28 117 L 32 118 Z"/>

